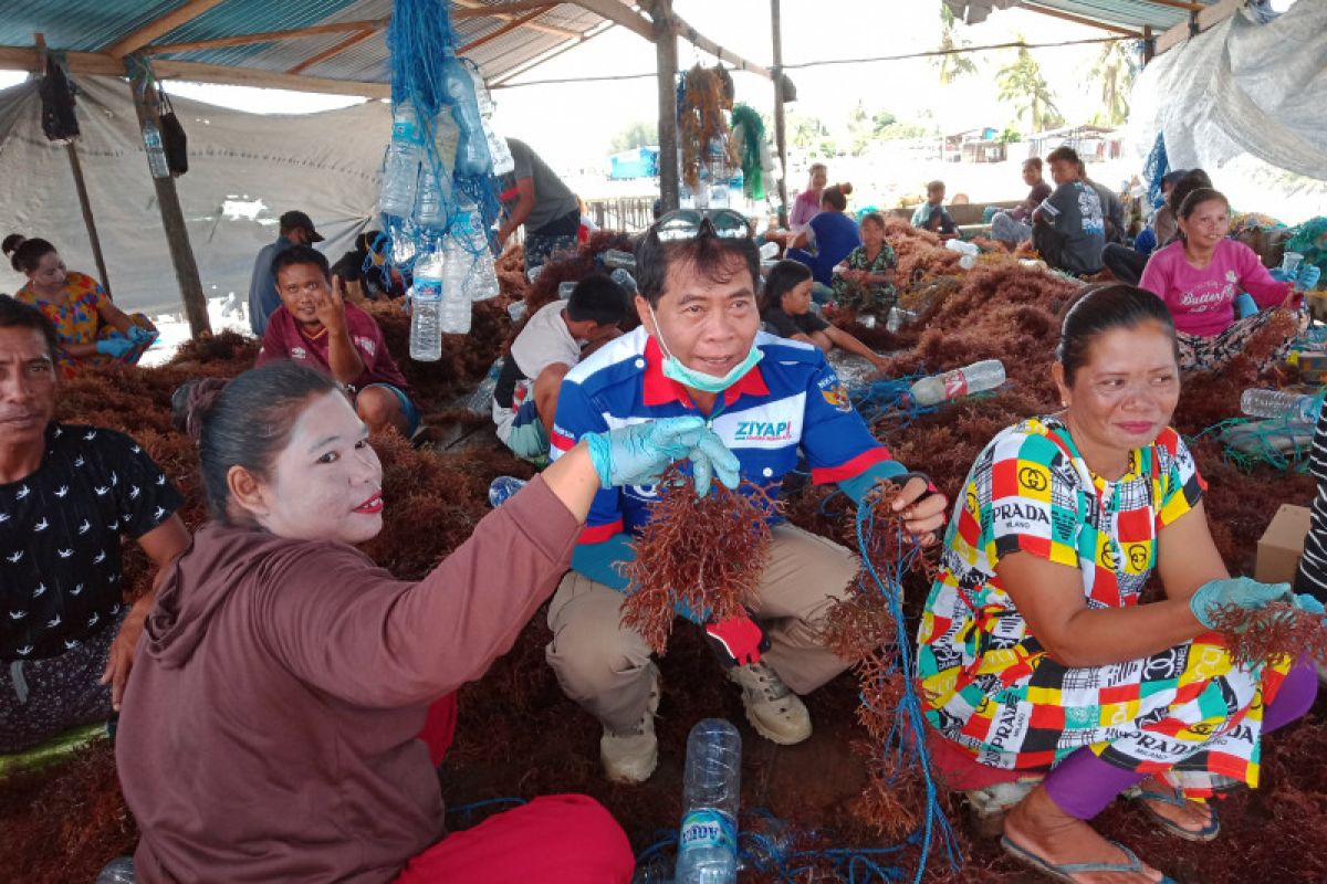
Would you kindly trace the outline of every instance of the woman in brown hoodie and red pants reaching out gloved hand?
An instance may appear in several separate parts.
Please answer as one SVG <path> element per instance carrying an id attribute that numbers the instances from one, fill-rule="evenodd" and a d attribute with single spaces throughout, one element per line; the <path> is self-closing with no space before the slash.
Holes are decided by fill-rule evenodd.
<path id="1" fill-rule="evenodd" d="M 382 530 L 382 465 L 336 380 L 276 362 L 195 390 L 214 522 L 162 580 L 115 741 L 138 880 L 625 884 L 581 795 L 447 835 L 415 737 L 552 594 L 601 486 L 679 457 L 734 486 L 735 457 L 699 417 L 593 433 L 410 583 L 352 546 Z"/>

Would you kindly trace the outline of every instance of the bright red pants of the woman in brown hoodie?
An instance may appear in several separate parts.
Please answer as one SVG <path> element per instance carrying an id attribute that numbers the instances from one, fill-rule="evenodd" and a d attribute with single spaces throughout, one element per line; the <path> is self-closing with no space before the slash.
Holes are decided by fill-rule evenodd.
<path id="1" fill-rule="evenodd" d="M 544 795 L 445 839 L 394 884 L 628 884 L 626 832 L 585 795 Z"/>

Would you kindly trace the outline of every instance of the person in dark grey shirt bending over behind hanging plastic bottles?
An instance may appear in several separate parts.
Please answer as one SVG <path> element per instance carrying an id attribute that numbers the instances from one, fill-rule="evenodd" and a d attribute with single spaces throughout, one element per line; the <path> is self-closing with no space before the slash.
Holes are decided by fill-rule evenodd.
<path id="1" fill-rule="evenodd" d="M 529 144 L 507 139 L 516 167 L 502 176 L 499 199 L 507 216 L 498 228 L 498 245 L 525 225 L 525 272 L 541 266 L 561 249 L 575 249 L 580 233 L 580 200 Z"/>

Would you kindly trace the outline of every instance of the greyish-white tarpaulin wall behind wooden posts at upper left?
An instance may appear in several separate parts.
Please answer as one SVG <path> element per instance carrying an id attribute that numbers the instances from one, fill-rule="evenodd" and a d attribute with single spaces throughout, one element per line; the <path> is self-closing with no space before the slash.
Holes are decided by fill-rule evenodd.
<path id="1" fill-rule="evenodd" d="M 77 77 L 78 158 L 122 309 L 180 310 L 157 191 L 147 172 L 126 81 Z M 257 250 L 277 236 L 276 219 L 303 209 L 336 261 L 356 233 L 376 225 L 378 166 L 391 134 L 384 102 L 308 115 L 249 114 L 173 98 L 188 134 L 180 207 L 207 297 L 248 297 Z M 50 240 L 73 270 L 97 276 L 68 151 L 41 133 L 35 82 L 0 91 L 0 235 Z M 0 292 L 23 285 L 0 262 Z"/>

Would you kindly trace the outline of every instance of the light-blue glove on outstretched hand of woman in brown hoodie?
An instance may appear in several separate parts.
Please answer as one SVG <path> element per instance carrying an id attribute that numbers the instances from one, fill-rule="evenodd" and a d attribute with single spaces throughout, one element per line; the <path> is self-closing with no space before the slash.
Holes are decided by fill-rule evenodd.
<path id="1" fill-rule="evenodd" d="M 695 415 L 661 417 L 606 433 L 588 433 L 589 460 L 604 488 L 653 485 L 673 461 L 691 461 L 695 492 L 710 490 L 711 477 L 736 488 L 740 464 L 705 421 Z"/>

